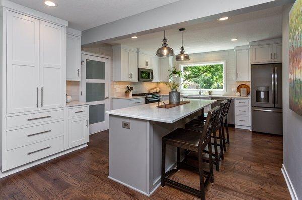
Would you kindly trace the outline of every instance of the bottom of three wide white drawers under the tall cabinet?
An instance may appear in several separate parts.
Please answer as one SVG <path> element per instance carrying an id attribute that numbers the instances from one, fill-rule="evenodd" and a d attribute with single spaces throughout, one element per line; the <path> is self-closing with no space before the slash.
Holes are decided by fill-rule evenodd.
<path id="1" fill-rule="evenodd" d="M 64 136 L 16 148 L 6 152 L 4 171 L 58 153 L 64 149 Z"/>

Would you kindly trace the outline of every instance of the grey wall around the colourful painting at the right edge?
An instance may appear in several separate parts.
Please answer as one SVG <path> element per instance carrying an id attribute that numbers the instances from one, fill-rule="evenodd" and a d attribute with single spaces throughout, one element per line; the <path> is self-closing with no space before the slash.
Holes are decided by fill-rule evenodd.
<path id="1" fill-rule="evenodd" d="M 289 109 L 289 44 L 290 5 L 283 6 L 283 162 L 294 190 L 302 199 L 302 116 Z"/>

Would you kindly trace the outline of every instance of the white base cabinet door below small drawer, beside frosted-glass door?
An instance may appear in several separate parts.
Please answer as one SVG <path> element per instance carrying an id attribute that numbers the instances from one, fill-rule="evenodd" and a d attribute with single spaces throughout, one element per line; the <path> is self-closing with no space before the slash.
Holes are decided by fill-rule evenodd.
<path id="1" fill-rule="evenodd" d="M 78 146 L 89 142 L 89 120 L 87 117 L 68 120 L 69 147 Z"/>

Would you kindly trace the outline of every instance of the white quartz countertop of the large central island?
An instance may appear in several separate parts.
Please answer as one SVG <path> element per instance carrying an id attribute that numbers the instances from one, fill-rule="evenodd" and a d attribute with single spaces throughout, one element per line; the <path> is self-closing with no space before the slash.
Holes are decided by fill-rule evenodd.
<path id="1" fill-rule="evenodd" d="M 107 111 L 106 114 L 123 117 L 174 123 L 202 108 L 211 105 L 216 100 L 190 99 L 190 103 L 173 108 L 158 108 L 158 103 L 138 105 L 128 108 Z M 168 104 L 168 101 L 165 101 Z"/>

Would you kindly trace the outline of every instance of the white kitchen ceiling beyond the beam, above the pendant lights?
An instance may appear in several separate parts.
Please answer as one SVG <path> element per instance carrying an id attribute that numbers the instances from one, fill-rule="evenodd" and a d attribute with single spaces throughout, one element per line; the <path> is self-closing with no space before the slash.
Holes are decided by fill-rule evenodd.
<path id="1" fill-rule="evenodd" d="M 168 46 L 174 49 L 174 54 L 178 54 L 181 47 L 181 33 L 178 28 L 166 31 Z M 186 53 L 233 49 L 236 46 L 248 45 L 252 41 L 280 38 L 282 36 L 282 6 L 230 16 L 230 19 L 226 21 L 215 20 L 184 28 L 186 28 L 183 32 Z M 125 44 L 155 53 L 162 45 L 163 35 L 163 32 L 156 32 L 137 36 L 136 39 L 114 41 L 110 44 Z M 232 38 L 238 38 L 238 40 L 233 42 Z"/>

